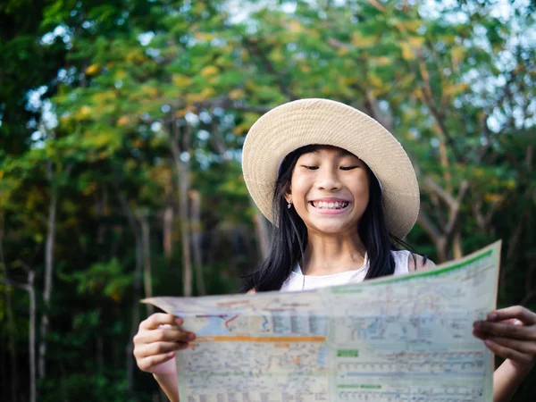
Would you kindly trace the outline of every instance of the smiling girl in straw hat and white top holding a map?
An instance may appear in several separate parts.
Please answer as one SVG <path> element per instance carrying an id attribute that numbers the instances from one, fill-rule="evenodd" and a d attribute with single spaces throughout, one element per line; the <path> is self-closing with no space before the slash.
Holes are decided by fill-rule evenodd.
<path id="1" fill-rule="evenodd" d="M 243 150 L 255 204 L 274 224 L 270 255 L 245 291 L 294 291 L 402 275 L 433 264 L 395 244 L 415 224 L 419 189 L 404 149 L 380 123 L 326 99 L 274 108 L 255 122 Z M 194 333 L 153 314 L 134 338 L 138 367 L 179 400 L 176 350 Z M 474 322 L 474 336 L 506 358 L 494 374 L 494 401 L 508 401 L 536 363 L 536 314 L 521 306 Z"/>

